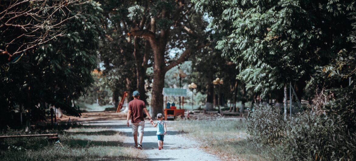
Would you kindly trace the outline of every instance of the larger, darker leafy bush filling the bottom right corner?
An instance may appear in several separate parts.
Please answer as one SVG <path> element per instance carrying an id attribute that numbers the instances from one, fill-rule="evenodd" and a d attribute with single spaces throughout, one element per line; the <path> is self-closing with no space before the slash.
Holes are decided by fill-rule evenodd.
<path id="1" fill-rule="evenodd" d="M 355 134 L 333 118 L 315 113 L 299 114 L 287 123 L 284 145 L 291 160 L 355 160 Z"/>

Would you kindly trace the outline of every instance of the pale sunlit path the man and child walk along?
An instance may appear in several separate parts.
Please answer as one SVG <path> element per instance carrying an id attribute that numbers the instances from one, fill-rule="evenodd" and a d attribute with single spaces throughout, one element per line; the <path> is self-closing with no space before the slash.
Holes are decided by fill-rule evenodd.
<path id="1" fill-rule="evenodd" d="M 113 116 L 117 116 L 114 118 Z M 93 116 L 93 117 L 90 117 Z M 109 119 L 104 119 L 100 116 L 110 116 Z M 93 118 L 93 119 L 90 119 Z M 83 117 L 79 119 L 74 119 L 75 121 L 82 123 L 83 125 L 98 126 L 103 128 L 108 128 L 126 134 L 126 139 L 124 143 L 126 146 L 133 146 L 134 141 L 132 138 L 131 127 L 127 127 L 125 118 L 120 114 L 103 112 L 103 113 L 83 113 Z M 64 121 L 66 118 L 63 119 Z M 157 129 L 146 121 L 145 123 L 145 134 L 143 135 L 143 151 L 147 154 L 149 160 L 154 161 L 166 161 L 166 160 L 177 160 L 177 161 L 219 161 L 219 158 L 208 154 L 204 150 L 199 148 L 199 143 L 190 138 L 185 138 L 181 136 L 177 131 L 172 130 L 169 127 L 169 123 L 172 121 L 167 121 L 167 135 L 164 136 L 163 150 L 158 150 L 157 144 Z"/>

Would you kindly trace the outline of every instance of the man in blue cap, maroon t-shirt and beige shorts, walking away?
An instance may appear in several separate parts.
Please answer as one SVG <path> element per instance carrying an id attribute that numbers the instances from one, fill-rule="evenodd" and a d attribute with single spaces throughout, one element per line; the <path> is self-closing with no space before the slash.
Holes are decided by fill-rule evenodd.
<path id="1" fill-rule="evenodd" d="M 127 127 L 129 127 L 129 119 L 131 117 L 131 127 L 133 140 L 135 140 L 135 147 L 142 149 L 142 138 L 143 138 L 143 128 L 145 127 L 145 120 L 143 118 L 143 111 L 146 113 L 150 119 L 150 123 L 153 123 L 153 120 L 146 109 L 145 102 L 139 100 L 140 93 L 138 91 L 133 91 L 132 93 L 133 100 L 129 103 L 129 111 L 127 112 Z M 137 145 L 137 133 L 140 135 L 140 143 Z"/>

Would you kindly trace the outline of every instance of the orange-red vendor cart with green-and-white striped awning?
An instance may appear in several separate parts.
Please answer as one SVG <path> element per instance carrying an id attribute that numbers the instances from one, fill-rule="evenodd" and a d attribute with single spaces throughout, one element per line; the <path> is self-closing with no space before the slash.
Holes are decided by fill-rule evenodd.
<path id="1" fill-rule="evenodd" d="M 182 88 L 163 88 L 162 92 L 163 96 L 166 96 L 166 108 L 164 108 L 164 120 L 167 120 L 168 116 L 169 117 L 184 117 L 184 96 L 187 96 L 187 90 L 182 89 Z M 183 102 L 182 102 L 182 108 L 183 109 L 173 109 L 173 108 L 167 108 L 167 96 L 173 96 L 173 97 L 182 97 Z"/>

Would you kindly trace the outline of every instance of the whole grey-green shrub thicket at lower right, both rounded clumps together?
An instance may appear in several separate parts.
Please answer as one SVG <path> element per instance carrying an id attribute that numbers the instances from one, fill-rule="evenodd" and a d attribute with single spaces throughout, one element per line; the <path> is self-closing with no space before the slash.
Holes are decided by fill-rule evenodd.
<path id="1" fill-rule="evenodd" d="M 315 113 L 284 120 L 273 107 L 258 107 L 248 118 L 248 133 L 258 143 L 282 146 L 281 160 L 355 160 L 356 134 L 337 120 Z"/>

